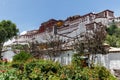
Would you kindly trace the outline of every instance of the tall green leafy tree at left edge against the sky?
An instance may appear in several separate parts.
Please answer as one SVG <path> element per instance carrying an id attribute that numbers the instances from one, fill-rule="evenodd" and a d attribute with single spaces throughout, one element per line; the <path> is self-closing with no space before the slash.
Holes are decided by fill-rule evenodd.
<path id="1" fill-rule="evenodd" d="M 10 20 L 3 20 L 0 22 L 0 58 L 4 42 L 16 36 L 18 32 L 19 30 L 16 25 Z"/>

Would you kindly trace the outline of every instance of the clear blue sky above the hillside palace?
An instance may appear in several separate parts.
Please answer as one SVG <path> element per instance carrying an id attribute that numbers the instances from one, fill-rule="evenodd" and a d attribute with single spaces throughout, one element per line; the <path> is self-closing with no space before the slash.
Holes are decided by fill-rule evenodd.
<path id="1" fill-rule="evenodd" d="M 120 16 L 120 0 L 0 0 L 0 21 L 11 20 L 22 32 L 38 29 L 51 18 L 64 20 L 106 9 Z"/>

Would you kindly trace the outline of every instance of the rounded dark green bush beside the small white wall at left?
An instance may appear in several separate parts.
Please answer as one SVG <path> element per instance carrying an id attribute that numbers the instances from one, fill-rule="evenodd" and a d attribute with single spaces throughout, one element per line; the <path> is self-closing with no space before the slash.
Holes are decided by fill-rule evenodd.
<path id="1" fill-rule="evenodd" d="M 13 57 L 13 61 L 24 62 L 29 58 L 32 58 L 31 54 L 21 51 Z"/>

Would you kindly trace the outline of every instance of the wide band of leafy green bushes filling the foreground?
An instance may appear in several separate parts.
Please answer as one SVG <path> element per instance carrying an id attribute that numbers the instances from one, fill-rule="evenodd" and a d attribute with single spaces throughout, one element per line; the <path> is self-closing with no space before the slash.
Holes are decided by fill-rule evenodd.
<path id="1" fill-rule="evenodd" d="M 11 66 L 12 65 L 12 66 Z M 78 69 L 48 60 L 29 59 L 24 63 L 0 65 L 0 80 L 117 80 L 104 67 Z"/>

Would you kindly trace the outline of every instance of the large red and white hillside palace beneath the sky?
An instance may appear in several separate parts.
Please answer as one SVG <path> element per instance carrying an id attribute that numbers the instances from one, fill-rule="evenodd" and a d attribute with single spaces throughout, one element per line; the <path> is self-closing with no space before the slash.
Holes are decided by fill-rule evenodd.
<path id="1" fill-rule="evenodd" d="M 26 43 L 34 41 L 45 42 L 44 37 L 50 33 L 61 36 L 65 41 L 74 38 L 79 34 L 84 34 L 86 29 L 90 30 L 95 26 L 107 26 L 112 21 L 120 21 L 120 18 L 115 18 L 114 12 L 105 10 L 99 13 L 88 13 L 85 15 L 75 15 L 68 17 L 66 20 L 50 19 L 40 25 L 38 30 L 27 31 L 26 34 L 20 35 L 15 41 L 17 43 Z M 55 26 L 57 31 L 55 31 Z M 14 43 L 15 43 L 14 42 Z"/>

